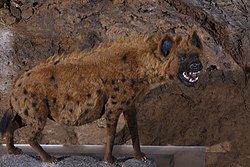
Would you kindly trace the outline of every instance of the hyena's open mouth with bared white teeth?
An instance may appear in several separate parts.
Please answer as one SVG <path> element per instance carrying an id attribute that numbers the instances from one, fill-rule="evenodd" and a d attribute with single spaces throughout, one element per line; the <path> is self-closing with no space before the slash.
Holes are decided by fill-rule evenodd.
<path id="1" fill-rule="evenodd" d="M 180 72 L 179 79 L 186 86 L 193 86 L 199 80 L 200 71 Z"/>

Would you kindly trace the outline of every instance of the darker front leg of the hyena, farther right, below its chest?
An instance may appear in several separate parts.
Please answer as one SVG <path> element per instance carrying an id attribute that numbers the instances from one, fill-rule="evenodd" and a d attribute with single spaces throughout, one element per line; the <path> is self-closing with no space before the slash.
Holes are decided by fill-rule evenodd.
<path id="1" fill-rule="evenodd" d="M 123 112 L 125 120 L 127 121 L 130 135 L 131 135 L 135 159 L 146 160 L 147 157 L 143 152 L 141 152 L 141 148 L 140 148 L 136 113 L 137 112 L 136 112 L 135 107 L 132 107 L 130 110 Z"/>

